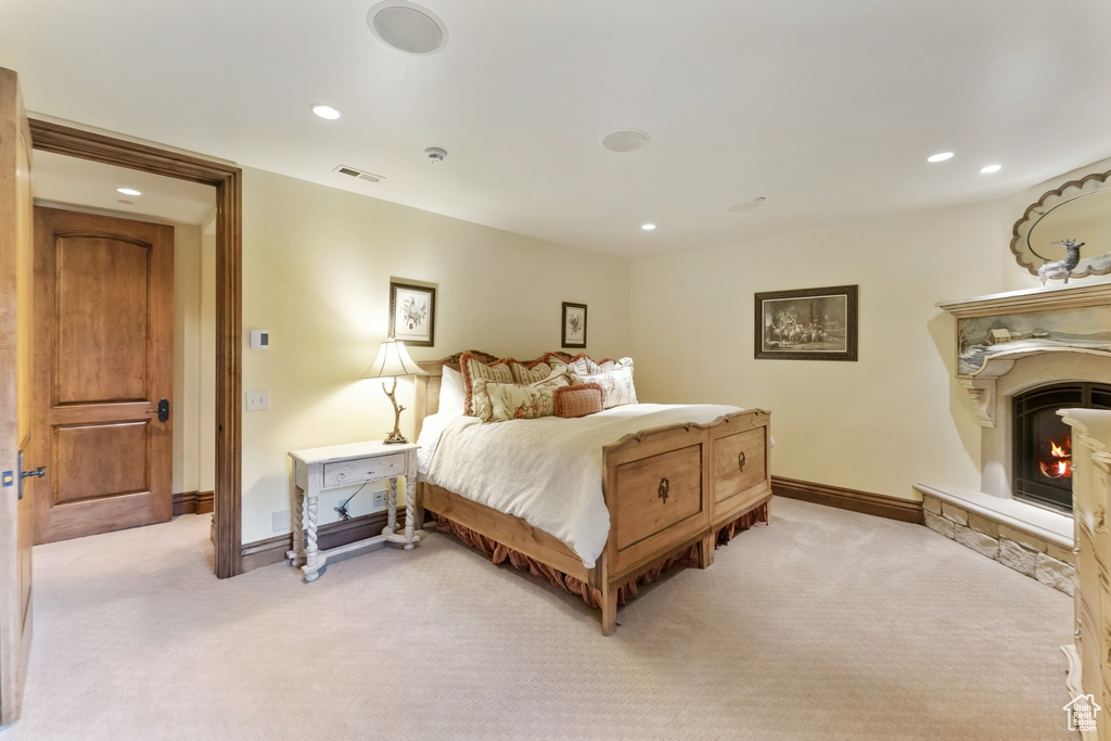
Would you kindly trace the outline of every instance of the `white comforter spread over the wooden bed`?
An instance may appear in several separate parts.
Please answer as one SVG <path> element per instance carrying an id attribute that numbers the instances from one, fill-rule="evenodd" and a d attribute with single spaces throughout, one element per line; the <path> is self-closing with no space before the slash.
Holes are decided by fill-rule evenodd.
<path id="1" fill-rule="evenodd" d="M 420 478 L 551 533 L 593 568 L 610 531 L 602 447 L 639 430 L 704 424 L 737 411 L 717 404 L 629 404 L 579 419 L 494 424 L 433 414 L 419 440 Z"/>

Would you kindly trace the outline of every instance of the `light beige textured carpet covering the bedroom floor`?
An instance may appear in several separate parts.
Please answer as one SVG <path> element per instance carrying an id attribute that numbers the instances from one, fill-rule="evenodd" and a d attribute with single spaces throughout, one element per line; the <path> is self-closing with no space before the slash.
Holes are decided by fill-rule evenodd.
<path id="1" fill-rule="evenodd" d="M 774 500 L 610 638 L 444 535 L 210 572 L 209 518 L 34 549 L 24 739 L 1053 739 L 1072 602 L 925 528 Z"/>

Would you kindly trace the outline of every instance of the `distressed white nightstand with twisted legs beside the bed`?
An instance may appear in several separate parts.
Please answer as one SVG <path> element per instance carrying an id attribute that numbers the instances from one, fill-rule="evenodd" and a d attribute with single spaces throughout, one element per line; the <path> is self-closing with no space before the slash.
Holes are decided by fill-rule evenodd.
<path id="1" fill-rule="evenodd" d="M 304 581 L 316 581 L 330 555 L 339 555 L 374 543 L 403 543 L 411 551 L 420 538 L 413 534 L 413 500 L 417 489 L 417 450 L 413 443 L 387 445 L 353 442 L 346 445 L 291 451 L 293 459 L 293 550 L 286 553 L 291 567 L 301 567 Z M 406 478 L 406 532 L 398 524 L 398 477 Z M 366 538 L 328 551 L 317 550 L 317 498 L 326 489 L 388 479 L 386 497 L 389 521 L 381 535 Z M 303 512 L 303 517 L 302 517 Z M 303 563 L 303 565 L 302 565 Z"/>

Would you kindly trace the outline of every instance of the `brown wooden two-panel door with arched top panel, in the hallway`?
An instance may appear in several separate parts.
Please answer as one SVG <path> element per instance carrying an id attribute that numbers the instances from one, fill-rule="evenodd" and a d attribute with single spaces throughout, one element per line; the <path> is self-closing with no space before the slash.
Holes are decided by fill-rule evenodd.
<path id="1" fill-rule="evenodd" d="M 34 278 L 34 542 L 169 520 L 173 228 L 36 208 Z"/>

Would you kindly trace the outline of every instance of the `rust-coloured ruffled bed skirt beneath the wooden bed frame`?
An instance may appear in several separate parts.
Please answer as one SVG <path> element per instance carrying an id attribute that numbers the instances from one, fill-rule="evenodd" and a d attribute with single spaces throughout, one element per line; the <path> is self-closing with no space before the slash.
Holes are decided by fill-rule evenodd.
<path id="1" fill-rule="evenodd" d="M 524 553 L 514 551 L 512 548 L 509 548 L 503 543 L 499 543 L 491 538 L 487 538 L 481 533 L 474 532 L 469 528 L 464 528 L 458 522 L 452 522 L 441 514 L 437 514 L 437 532 L 450 533 L 454 535 L 468 545 L 476 548 L 493 563 L 499 564 L 509 561 L 518 571 L 528 571 L 533 577 L 544 579 L 565 592 L 578 594 L 582 598 L 582 601 L 591 608 L 601 607 L 602 593 L 590 587 L 584 581 L 565 574 L 558 569 L 553 569 L 546 563 L 531 559 Z M 732 522 L 723 525 L 721 530 L 718 531 L 717 548 L 729 544 L 730 540 L 749 528 L 762 528 L 765 524 L 768 524 L 768 504 L 763 503 L 749 510 Z M 624 604 L 632 598 L 637 597 L 638 585 L 651 584 L 653 581 L 659 579 L 661 573 L 675 565 L 698 565 L 697 542 L 677 553 L 669 553 L 661 557 L 655 562 L 650 563 L 645 570 L 631 578 L 627 583 L 621 584 L 618 588 L 618 604 Z"/>

